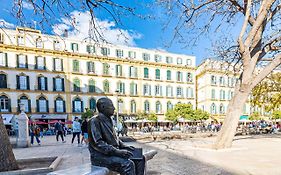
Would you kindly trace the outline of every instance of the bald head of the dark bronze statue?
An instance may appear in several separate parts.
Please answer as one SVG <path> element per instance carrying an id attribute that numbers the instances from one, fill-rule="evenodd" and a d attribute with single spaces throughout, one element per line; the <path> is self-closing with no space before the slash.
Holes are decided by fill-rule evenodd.
<path id="1" fill-rule="evenodd" d="M 102 97 L 97 101 L 98 111 L 107 117 L 111 117 L 114 114 L 115 107 L 109 98 Z"/>

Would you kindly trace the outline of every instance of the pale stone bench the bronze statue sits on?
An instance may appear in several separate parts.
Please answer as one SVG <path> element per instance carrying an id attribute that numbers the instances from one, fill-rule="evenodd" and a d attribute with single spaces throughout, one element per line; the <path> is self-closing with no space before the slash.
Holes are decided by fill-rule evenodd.
<path id="1" fill-rule="evenodd" d="M 151 150 L 146 153 L 144 153 L 145 161 L 151 160 L 155 155 L 157 154 L 157 151 Z M 54 171 L 51 173 L 48 173 L 47 175 L 116 175 L 118 173 L 110 171 L 109 169 L 105 167 L 99 167 L 99 166 L 93 166 L 90 163 L 69 168 L 66 170 L 59 170 Z"/>

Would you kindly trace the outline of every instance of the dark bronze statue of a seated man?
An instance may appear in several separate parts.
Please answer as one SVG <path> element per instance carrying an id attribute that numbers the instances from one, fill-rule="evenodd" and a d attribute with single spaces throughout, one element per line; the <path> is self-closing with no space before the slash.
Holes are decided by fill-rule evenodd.
<path id="1" fill-rule="evenodd" d="M 125 145 L 117 138 L 111 119 L 115 110 L 112 101 L 109 98 L 100 98 L 97 108 L 98 116 L 91 118 L 88 125 L 92 165 L 107 167 L 121 175 L 143 175 L 144 158 L 130 160 L 134 147 Z"/>

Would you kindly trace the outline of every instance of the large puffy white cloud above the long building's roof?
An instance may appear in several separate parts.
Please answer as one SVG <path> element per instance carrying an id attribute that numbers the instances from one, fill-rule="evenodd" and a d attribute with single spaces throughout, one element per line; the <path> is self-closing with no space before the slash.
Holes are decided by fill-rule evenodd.
<path id="1" fill-rule="evenodd" d="M 89 38 L 90 13 L 73 11 L 70 16 L 70 19 L 61 18 L 61 23 L 52 26 L 53 32 L 57 35 L 62 35 L 65 30 L 68 30 L 68 37 L 70 38 L 80 40 Z M 98 31 L 103 35 L 103 38 L 112 44 L 135 46 L 135 40 L 142 37 L 141 34 L 135 31 L 118 28 L 115 22 L 112 21 L 96 18 L 95 24 L 98 26 Z"/>

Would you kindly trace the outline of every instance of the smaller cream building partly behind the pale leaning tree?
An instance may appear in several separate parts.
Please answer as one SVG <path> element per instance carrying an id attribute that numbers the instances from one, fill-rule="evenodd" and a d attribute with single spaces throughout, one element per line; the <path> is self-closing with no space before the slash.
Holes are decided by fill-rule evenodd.
<path id="1" fill-rule="evenodd" d="M 234 72 L 231 65 L 222 61 L 206 59 L 202 62 L 196 71 L 197 108 L 223 120 L 238 78 Z M 243 115 L 248 116 L 250 112 L 248 101 L 244 104 Z"/>

